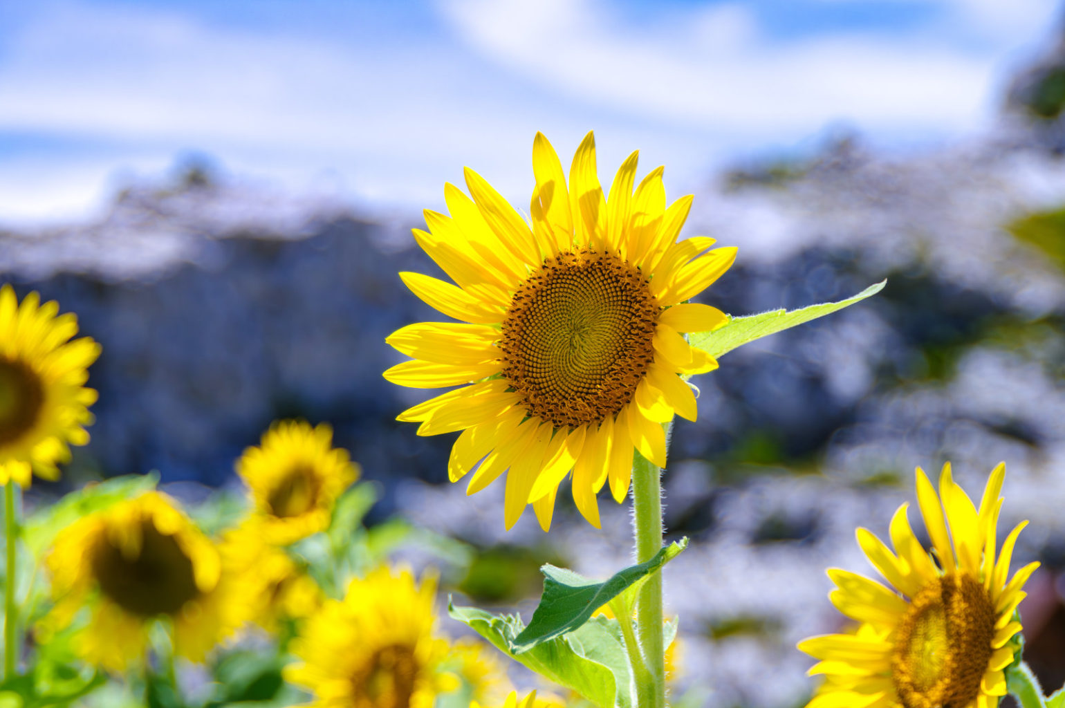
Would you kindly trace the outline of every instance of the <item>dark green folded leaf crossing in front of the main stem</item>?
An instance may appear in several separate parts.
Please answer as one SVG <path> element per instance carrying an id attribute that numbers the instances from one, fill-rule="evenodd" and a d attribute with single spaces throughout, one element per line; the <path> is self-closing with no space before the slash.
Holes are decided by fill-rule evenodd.
<path id="1" fill-rule="evenodd" d="M 543 596 L 532 612 L 532 620 L 518 637 L 511 649 L 527 652 L 541 642 L 573 631 L 588 622 L 592 613 L 633 583 L 645 578 L 688 547 L 688 539 L 671 543 L 651 560 L 618 571 L 603 582 L 550 563 L 541 567 L 544 575 Z"/>

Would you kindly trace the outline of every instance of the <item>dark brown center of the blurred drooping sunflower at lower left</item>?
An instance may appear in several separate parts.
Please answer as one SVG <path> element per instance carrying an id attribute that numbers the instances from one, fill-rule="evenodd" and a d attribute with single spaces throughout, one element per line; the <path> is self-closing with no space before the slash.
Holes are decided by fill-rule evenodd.
<path id="1" fill-rule="evenodd" d="M 141 522 L 141 550 L 134 558 L 104 541 L 92 562 L 103 594 L 133 614 L 176 614 L 199 594 L 192 559 L 149 520 Z"/>

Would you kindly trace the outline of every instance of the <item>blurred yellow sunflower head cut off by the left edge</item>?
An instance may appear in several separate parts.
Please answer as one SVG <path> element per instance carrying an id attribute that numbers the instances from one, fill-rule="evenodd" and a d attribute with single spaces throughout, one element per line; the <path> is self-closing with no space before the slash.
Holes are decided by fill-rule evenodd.
<path id="1" fill-rule="evenodd" d="M 0 484 L 27 487 L 33 472 L 56 479 L 69 445 L 88 442 L 96 391 L 84 383 L 100 345 L 87 336 L 70 342 L 78 318 L 59 309 L 40 304 L 36 293 L 19 304 L 11 285 L 0 287 Z"/>

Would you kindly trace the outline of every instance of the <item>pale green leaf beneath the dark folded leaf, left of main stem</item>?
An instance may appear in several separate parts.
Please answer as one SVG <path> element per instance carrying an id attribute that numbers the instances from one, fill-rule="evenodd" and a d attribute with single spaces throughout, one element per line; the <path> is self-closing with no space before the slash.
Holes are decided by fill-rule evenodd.
<path id="1" fill-rule="evenodd" d="M 507 654 L 524 629 L 519 618 L 496 616 L 476 607 L 455 607 L 450 602 L 447 613 Z M 601 708 L 633 708 L 628 657 L 616 620 L 592 618 L 575 631 L 539 643 L 513 658 Z"/>

